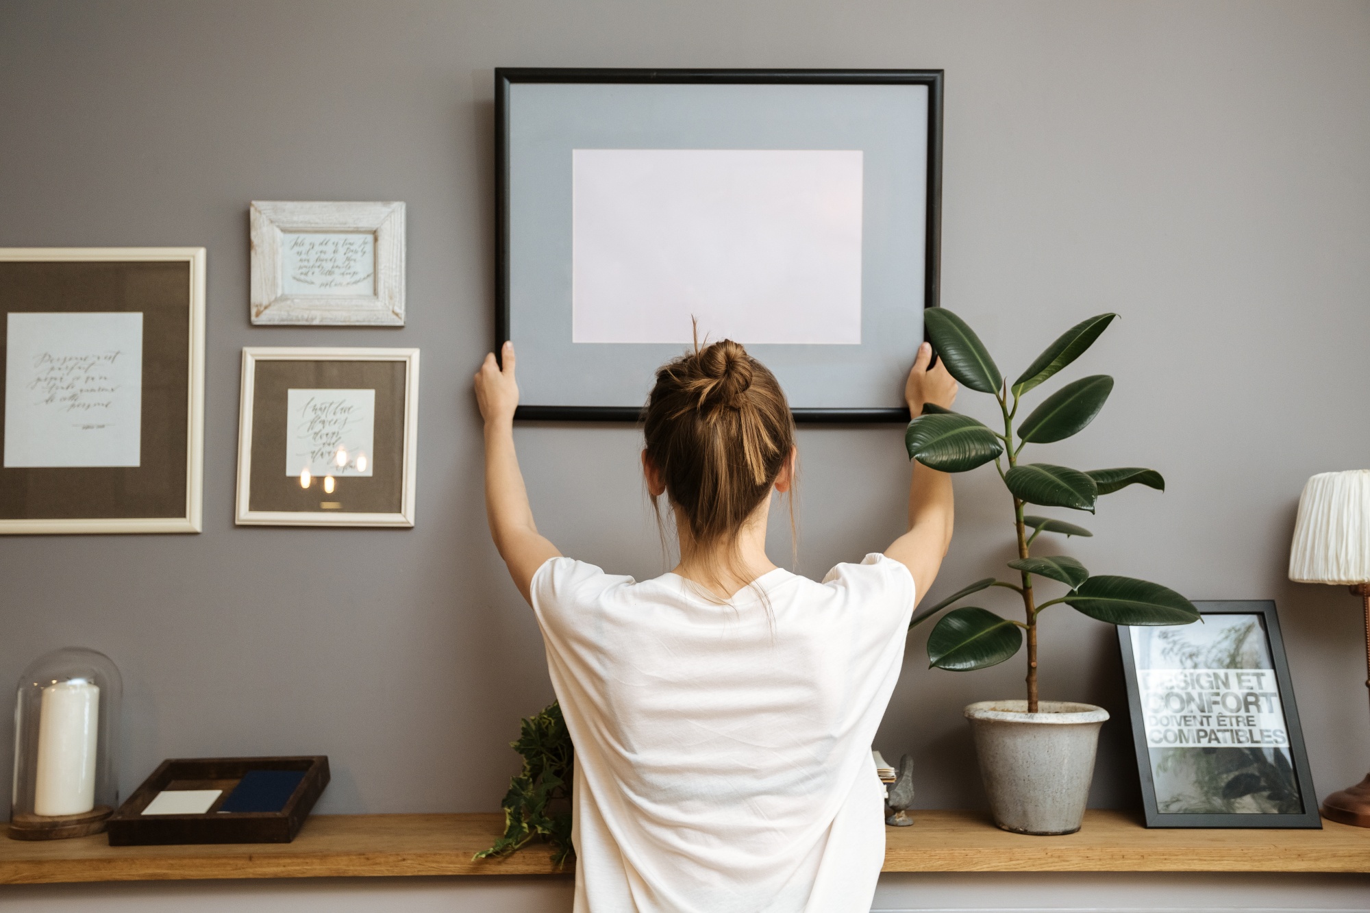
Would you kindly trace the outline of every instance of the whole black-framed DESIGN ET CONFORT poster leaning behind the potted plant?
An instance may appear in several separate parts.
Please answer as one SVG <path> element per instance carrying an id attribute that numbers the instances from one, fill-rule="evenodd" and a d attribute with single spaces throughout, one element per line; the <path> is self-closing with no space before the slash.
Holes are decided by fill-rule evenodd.
<path id="1" fill-rule="evenodd" d="M 1148 828 L 1321 828 L 1270 600 L 1203 624 L 1118 626 Z"/>

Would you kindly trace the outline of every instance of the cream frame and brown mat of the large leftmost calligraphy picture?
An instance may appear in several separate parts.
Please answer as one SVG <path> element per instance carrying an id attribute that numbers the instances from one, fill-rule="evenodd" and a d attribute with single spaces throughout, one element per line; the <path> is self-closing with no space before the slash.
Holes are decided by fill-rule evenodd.
<path id="1" fill-rule="evenodd" d="M 11 276 L 15 270 L 29 276 Z M 26 494 L 25 510 L 0 517 L 0 533 L 201 531 L 204 277 L 203 247 L 0 248 L 0 321 L 34 311 L 136 313 L 142 337 L 138 459 L 0 469 L 0 487 Z M 11 285 L 15 278 L 21 285 Z M 0 356 L 8 361 L 7 345 Z"/>

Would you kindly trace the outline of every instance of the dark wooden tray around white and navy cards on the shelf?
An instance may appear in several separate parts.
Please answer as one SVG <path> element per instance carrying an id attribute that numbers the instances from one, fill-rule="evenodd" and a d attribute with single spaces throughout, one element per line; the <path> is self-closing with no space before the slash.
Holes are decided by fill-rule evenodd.
<path id="1" fill-rule="evenodd" d="M 248 770 L 304 770 L 304 779 L 279 812 L 219 812 Z M 326 755 L 292 758 L 171 758 L 142 781 L 110 817 L 110 846 L 159 843 L 289 843 L 329 784 Z M 203 814 L 142 816 L 169 787 L 223 790 Z"/>

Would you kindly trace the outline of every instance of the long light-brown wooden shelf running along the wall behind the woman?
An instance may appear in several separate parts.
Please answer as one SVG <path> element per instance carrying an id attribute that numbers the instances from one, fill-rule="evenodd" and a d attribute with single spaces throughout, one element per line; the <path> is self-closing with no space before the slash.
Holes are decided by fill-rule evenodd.
<path id="1" fill-rule="evenodd" d="M 886 872 L 1370 872 L 1370 828 L 1148 831 L 1128 813 L 1093 810 L 1070 836 L 1007 833 L 975 812 L 915 812 L 886 828 Z M 105 836 L 0 838 L 0 884 L 189 879 L 303 879 L 558 873 L 545 844 L 504 860 L 488 847 L 501 814 L 322 814 L 293 843 L 111 847 Z"/>

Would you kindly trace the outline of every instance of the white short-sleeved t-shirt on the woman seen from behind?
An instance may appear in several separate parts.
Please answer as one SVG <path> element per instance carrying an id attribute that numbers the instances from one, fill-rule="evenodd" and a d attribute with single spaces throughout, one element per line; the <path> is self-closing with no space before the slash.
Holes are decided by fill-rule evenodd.
<path id="1" fill-rule="evenodd" d="M 870 909 L 904 565 L 777 569 L 717 605 L 677 574 L 553 558 L 532 589 L 575 743 L 575 913 Z"/>

